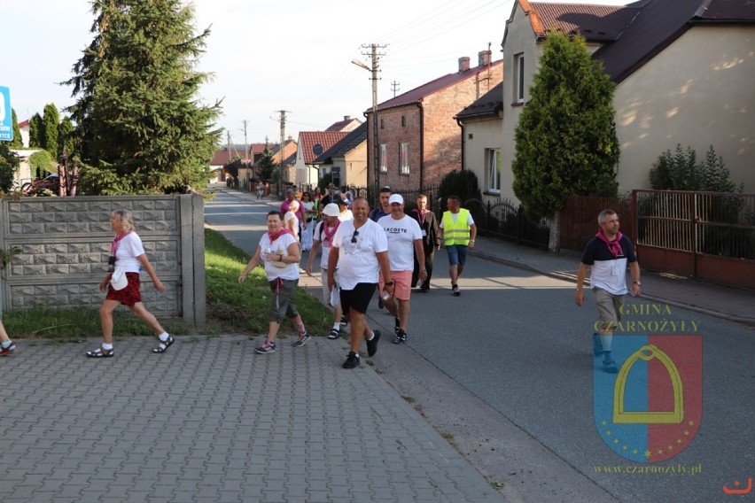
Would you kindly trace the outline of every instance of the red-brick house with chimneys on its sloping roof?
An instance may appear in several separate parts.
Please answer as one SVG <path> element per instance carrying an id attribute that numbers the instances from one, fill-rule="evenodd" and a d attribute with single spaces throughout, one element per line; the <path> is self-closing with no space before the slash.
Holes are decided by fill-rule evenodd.
<path id="1" fill-rule="evenodd" d="M 455 115 L 503 79 L 503 62 L 491 51 L 479 52 L 479 65 L 459 58 L 458 72 L 448 74 L 377 104 L 379 172 L 375 163 L 372 109 L 368 124 L 368 183 L 421 190 L 462 166 L 462 145 Z"/>

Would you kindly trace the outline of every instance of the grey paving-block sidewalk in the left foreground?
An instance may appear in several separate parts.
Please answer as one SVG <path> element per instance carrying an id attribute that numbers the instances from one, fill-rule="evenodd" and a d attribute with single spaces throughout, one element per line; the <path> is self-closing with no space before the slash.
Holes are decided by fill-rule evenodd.
<path id="1" fill-rule="evenodd" d="M 259 338 L 259 337 L 257 337 Z M 0 501 L 504 501 L 346 341 L 19 341 L 0 360 Z M 379 355 L 379 349 L 377 354 Z"/>

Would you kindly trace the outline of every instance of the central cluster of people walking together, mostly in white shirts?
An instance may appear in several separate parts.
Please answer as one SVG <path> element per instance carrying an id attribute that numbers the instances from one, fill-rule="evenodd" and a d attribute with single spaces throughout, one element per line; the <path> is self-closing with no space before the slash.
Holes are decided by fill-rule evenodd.
<path id="1" fill-rule="evenodd" d="M 368 355 L 373 356 L 381 337 L 379 330 L 370 329 L 365 317 L 375 291 L 379 292 L 381 305 L 394 316 L 393 343 L 405 343 L 411 290 L 416 287 L 422 292 L 430 290 L 434 253 L 440 249 L 444 236 L 449 259 L 453 258 L 449 268 L 452 292 L 458 296 L 458 276 L 468 248 L 474 246 L 477 228 L 471 214 L 460 210 L 458 197 L 449 197 L 448 218 L 444 214 L 440 224 L 428 209 L 425 195 L 417 198 L 417 208 L 410 215 L 404 213 L 403 197 L 393 194 L 388 187 L 380 191 L 381 205 L 372 212 L 364 197 L 354 198 L 351 209 L 346 197 L 336 196 L 334 191 L 329 190 L 325 197 L 326 204 L 320 209 L 322 220 L 317 221 L 312 232 L 306 272 L 312 275 L 317 252 L 322 249 L 323 300 L 333 309 L 328 337 L 339 338 L 341 326 L 351 325 L 350 351 L 344 368 L 355 368 L 361 361 L 362 339 Z M 293 300 L 301 252 L 307 249 L 305 241 L 300 242 L 297 235 L 299 210 L 295 193 L 287 192 L 281 211 L 268 213 L 268 233 L 261 237 L 252 259 L 238 276 L 238 281 L 244 282 L 254 267 L 263 265 L 273 292 L 269 331 L 264 342 L 255 348 L 261 354 L 276 351 L 277 331 L 284 316 L 299 330 L 294 347 L 306 344 L 310 338 Z"/>

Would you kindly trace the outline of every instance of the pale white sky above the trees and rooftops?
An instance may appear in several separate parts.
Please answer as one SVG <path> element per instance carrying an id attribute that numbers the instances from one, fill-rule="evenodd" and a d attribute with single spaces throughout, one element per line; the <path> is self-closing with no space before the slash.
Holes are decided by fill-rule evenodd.
<path id="1" fill-rule="evenodd" d="M 592 0 L 590 4 L 625 4 Z M 626 2 L 628 3 L 628 2 Z M 458 58 L 477 66 L 481 50 L 502 58 L 514 0 L 195 0 L 196 33 L 209 27 L 198 70 L 213 74 L 199 100 L 222 99 L 223 143 L 280 141 L 322 131 L 345 116 L 364 120 L 372 106 L 370 44 L 381 55 L 377 103 L 453 74 Z M 74 104 L 74 63 L 91 42 L 89 0 L 4 1 L 0 86 L 10 89 L 19 121 L 53 103 Z"/>

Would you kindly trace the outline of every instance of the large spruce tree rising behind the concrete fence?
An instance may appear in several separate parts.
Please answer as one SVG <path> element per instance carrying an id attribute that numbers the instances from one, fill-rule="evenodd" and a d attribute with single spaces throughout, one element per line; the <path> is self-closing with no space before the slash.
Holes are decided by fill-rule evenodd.
<path id="1" fill-rule="evenodd" d="M 74 64 L 80 188 L 169 193 L 209 180 L 220 103 L 201 104 L 209 75 L 194 68 L 209 30 L 193 33 L 179 0 L 94 0 L 95 34 Z"/>

